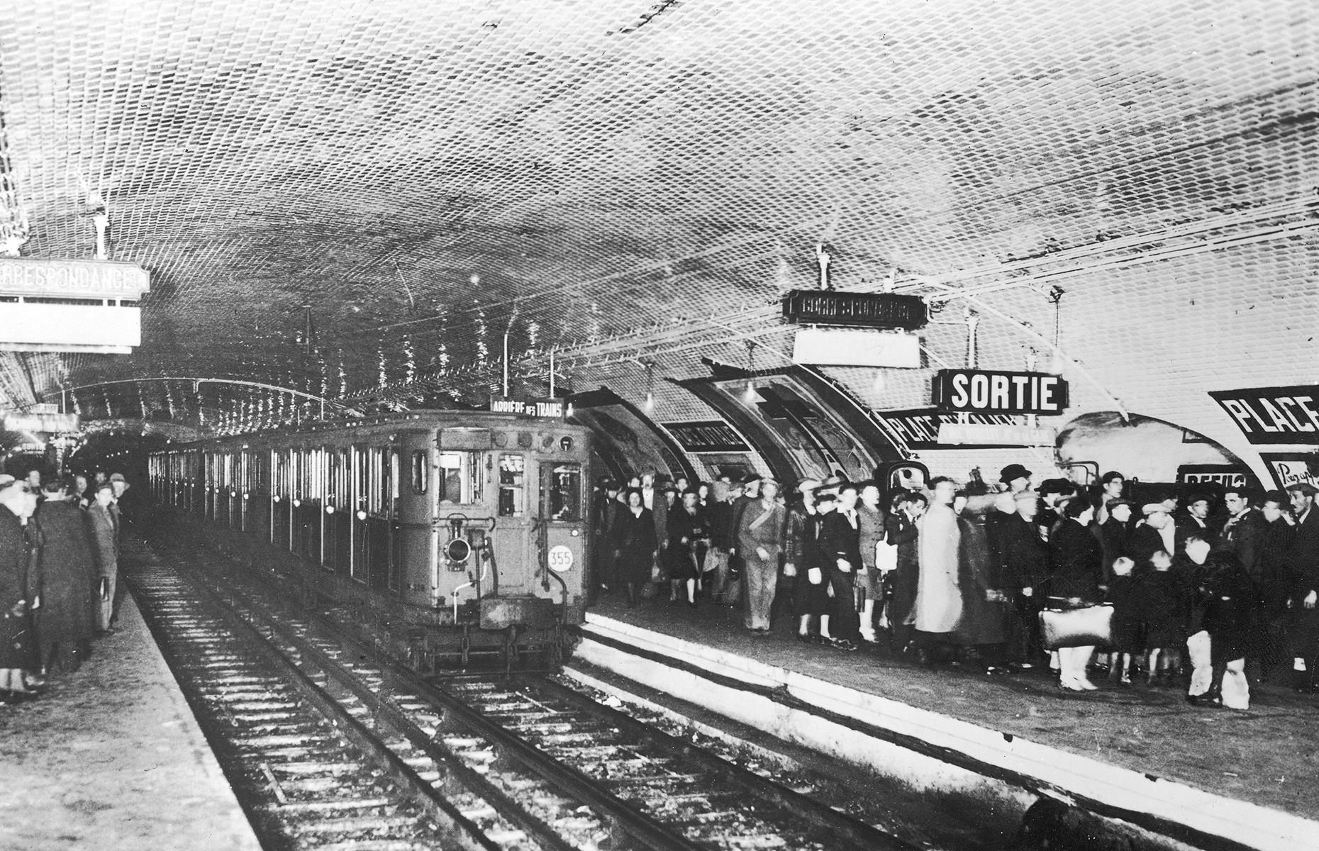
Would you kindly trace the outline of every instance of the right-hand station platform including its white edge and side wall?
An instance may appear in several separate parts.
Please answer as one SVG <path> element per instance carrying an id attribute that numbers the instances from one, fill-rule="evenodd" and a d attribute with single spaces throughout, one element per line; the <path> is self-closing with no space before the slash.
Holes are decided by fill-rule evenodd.
<path id="1" fill-rule="evenodd" d="M 1096 679 L 1097 691 L 1064 693 L 1047 670 L 988 676 L 922 668 L 880 648 L 805 644 L 786 619 L 754 636 L 739 611 L 706 602 L 696 610 L 667 599 L 627 608 L 613 594 L 587 619 L 575 660 L 649 678 L 670 694 L 686 689 L 685 699 L 702 706 L 723 699 L 720 711 L 737 720 L 798 743 L 816 736 L 842 756 L 865 747 L 851 732 L 868 731 L 888 748 L 874 752 L 881 771 L 910 772 L 913 784 L 966 786 L 968 773 L 985 774 L 1001 786 L 1057 792 L 1115 818 L 1144 819 L 1196 847 L 1319 847 L 1312 695 L 1265 683 L 1239 712 L 1190 706 L 1181 685 Z M 657 673 L 653 666 L 669 657 L 678 668 Z M 803 707 L 815 715 L 786 720 Z M 913 765 L 892 768 L 907 748 L 918 752 Z M 927 765 L 915 765 L 921 760 Z"/>

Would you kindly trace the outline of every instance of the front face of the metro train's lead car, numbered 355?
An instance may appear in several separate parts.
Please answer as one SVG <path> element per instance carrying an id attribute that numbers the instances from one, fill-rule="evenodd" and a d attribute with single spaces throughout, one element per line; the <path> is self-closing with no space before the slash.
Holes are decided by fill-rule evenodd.
<path id="1" fill-rule="evenodd" d="M 410 541 L 404 599 L 459 635 L 425 661 L 466 668 L 503 654 L 518 666 L 530 650 L 557 664 L 563 627 L 586 607 L 590 433 L 553 418 L 468 417 L 405 449 L 430 528 Z"/>

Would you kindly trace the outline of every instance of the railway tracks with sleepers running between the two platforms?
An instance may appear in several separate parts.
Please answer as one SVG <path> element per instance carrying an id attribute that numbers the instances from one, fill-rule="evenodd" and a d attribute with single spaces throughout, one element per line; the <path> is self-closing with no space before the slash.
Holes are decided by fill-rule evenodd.
<path id="1" fill-rule="evenodd" d="M 251 715 L 226 715 L 239 694 L 226 685 L 202 682 L 190 699 L 212 738 L 236 736 L 216 752 L 235 757 L 227 772 L 244 784 L 240 797 L 255 801 L 253 822 L 276 825 L 269 847 L 913 847 L 550 678 L 422 679 L 376 653 L 369 639 L 282 604 L 255 582 L 174 571 L 145 553 L 137 561 L 131 582 L 153 629 L 182 648 L 169 654 L 214 660 L 220 652 L 224 666 L 200 668 L 244 678 L 231 686 L 247 689 L 249 705 L 239 709 Z M 220 637 L 216 624 L 232 637 Z M 247 649 L 253 644 L 260 649 Z M 295 685 L 237 669 L 247 654 L 278 657 Z M 322 720 L 293 723 L 294 691 Z M 270 727 L 249 727 L 257 723 Z M 303 747 L 313 740 L 297 736 L 313 731 L 347 741 Z M 253 749 L 253 736 L 274 752 Z M 323 826 L 309 827 L 318 818 Z"/>

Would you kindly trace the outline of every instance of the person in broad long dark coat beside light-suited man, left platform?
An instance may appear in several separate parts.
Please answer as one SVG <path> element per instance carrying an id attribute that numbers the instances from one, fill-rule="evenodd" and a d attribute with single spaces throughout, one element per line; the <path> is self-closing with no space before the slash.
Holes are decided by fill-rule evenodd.
<path id="1" fill-rule="evenodd" d="M 91 552 L 87 517 L 65 497 L 58 480 L 44 488 L 46 501 L 37 508 L 41 526 L 41 610 L 37 639 L 44 670 L 78 670 L 96 632 L 92 608 L 96 561 Z"/>

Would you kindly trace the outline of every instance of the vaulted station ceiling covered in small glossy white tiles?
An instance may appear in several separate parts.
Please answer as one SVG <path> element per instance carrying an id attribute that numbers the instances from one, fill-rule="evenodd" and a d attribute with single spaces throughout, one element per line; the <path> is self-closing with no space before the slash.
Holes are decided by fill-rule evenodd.
<path id="1" fill-rule="evenodd" d="M 113 257 L 152 293 L 135 355 L 7 356 L 3 389 L 200 376 L 357 398 L 422 380 L 471 398 L 510 330 L 514 379 L 539 385 L 562 348 L 576 385 L 637 393 L 629 359 L 694 375 L 702 355 L 745 362 L 747 338 L 756 365 L 781 360 L 770 305 L 813 282 L 824 241 L 839 286 L 977 296 L 989 365 L 1034 344 L 1016 321 L 1051 332 L 1039 293 L 1059 282 L 1095 406 L 1208 418 L 1225 364 L 1316 377 L 1316 17 L 1308 0 L 16 4 L 0 226 L 25 219 L 24 255 L 87 257 L 103 201 Z M 960 332 L 927 347 L 955 359 Z M 1240 363 L 1261 334 L 1256 376 Z M 284 410 L 228 392 L 208 404 Z M 187 413 L 190 393 L 83 402 Z"/>

